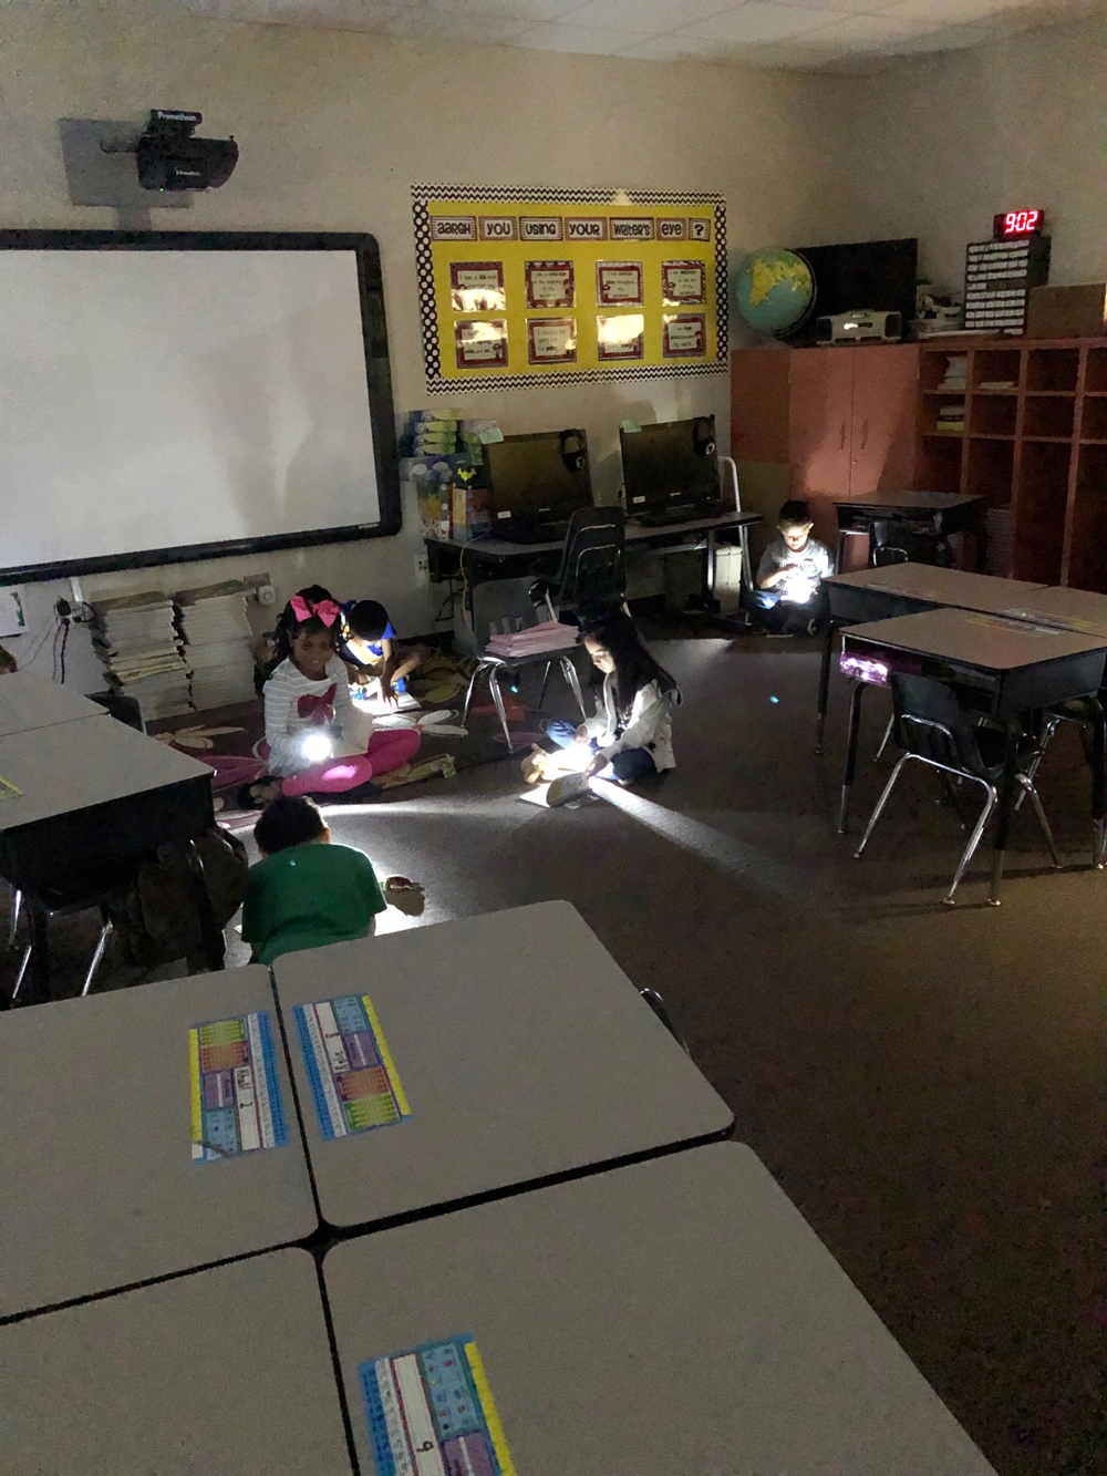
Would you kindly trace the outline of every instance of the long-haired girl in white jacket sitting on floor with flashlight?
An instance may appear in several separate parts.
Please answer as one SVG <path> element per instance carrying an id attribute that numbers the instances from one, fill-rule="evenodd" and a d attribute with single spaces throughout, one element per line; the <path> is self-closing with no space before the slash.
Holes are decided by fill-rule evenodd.
<path id="1" fill-rule="evenodd" d="M 680 689 L 639 639 L 633 620 L 614 611 L 584 633 L 592 663 L 604 673 L 604 694 L 595 717 L 580 728 L 548 723 L 559 748 L 587 744 L 592 759 L 584 773 L 633 784 L 676 766 L 673 707 Z"/>

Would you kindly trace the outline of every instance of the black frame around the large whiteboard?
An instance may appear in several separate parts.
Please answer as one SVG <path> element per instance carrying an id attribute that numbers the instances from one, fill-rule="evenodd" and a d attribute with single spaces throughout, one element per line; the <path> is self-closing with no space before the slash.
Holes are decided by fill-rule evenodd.
<path id="1" fill-rule="evenodd" d="M 375 236 L 360 232 L 275 230 L 0 230 L 3 251 L 353 251 L 362 300 L 362 334 L 369 387 L 369 421 L 376 463 L 376 523 L 354 523 L 341 528 L 310 528 L 304 533 L 273 533 L 226 543 L 186 543 L 130 554 L 65 559 L 58 564 L 22 564 L 0 568 L 0 583 L 28 583 L 100 574 L 156 564 L 192 564 L 201 559 L 235 558 L 267 549 L 308 548 L 319 543 L 350 543 L 357 539 L 394 537 L 403 525 L 400 459 L 396 444 L 393 372 L 388 359 L 388 322 L 384 308 L 381 249 Z"/>

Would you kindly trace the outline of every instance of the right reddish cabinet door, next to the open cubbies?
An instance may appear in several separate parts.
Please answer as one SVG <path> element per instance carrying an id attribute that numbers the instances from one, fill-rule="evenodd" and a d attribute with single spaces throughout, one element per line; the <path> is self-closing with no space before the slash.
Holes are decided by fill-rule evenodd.
<path id="1" fill-rule="evenodd" d="M 843 350 L 844 351 L 844 350 Z M 872 344 L 853 357 L 850 496 L 915 486 L 918 347 Z"/>

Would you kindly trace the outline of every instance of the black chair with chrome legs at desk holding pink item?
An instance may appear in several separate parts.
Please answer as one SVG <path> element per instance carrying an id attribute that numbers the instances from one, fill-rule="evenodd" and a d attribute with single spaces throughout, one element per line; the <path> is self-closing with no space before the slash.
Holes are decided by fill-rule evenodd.
<path id="1" fill-rule="evenodd" d="M 884 806 L 896 787 L 896 781 L 911 759 L 937 769 L 946 781 L 952 776 L 979 784 L 984 790 L 984 807 L 973 827 L 968 844 L 961 853 L 953 884 L 942 899 L 952 906 L 955 902 L 953 894 L 965 874 L 965 868 L 980 844 L 992 810 L 999 803 L 998 785 L 1004 772 L 1005 735 L 992 728 L 973 728 L 953 689 L 930 676 L 908 676 L 902 672 L 893 672 L 892 704 L 896 741 L 905 753 L 892 770 L 892 778 L 884 785 L 884 793 L 877 800 L 877 807 L 865 827 L 865 834 L 855 856 L 861 861 L 869 837 L 877 827 L 877 821 L 883 815 Z M 1023 794 L 1029 794 L 1038 824 L 1049 846 L 1054 866 L 1060 866 L 1052 831 L 1045 818 L 1038 790 L 1033 785 L 1033 772 L 1038 762 L 1041 762 L 1041 744 L 1032 738 L 1020 739 L 1015 760 L 1015 784 Z M 989 900 L 992 906 L 999 906 L 999 880 L 995 872 L 992 875 L 992 896 Z"/>

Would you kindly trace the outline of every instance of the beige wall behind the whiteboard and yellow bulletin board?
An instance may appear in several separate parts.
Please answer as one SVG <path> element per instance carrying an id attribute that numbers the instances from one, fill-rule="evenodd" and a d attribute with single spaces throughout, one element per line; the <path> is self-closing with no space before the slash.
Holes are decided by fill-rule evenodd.
<path id="1" fill-rule="evenodd" d="M 701 65 L 554 56 L 151 15 L 152 6 L 0 7 L 0 226 L 112 229 L 115 211 L 68 202 L 58 121 L 198 108 L 205 131 L 233 133 L 233 179 L 190 211 L 154 210 L 155 227 L 368 230 L 381 242 L 397 410 L 431 403 L 419 348 L 410 186 L 589 186 L 720 190 L 741 257 L 810 239 L 828 207 L 821 130 L 841 81 Z M 587 428 L 601 496 L 618 484 L 618 421 L 714 412 L 726 441 L 725 375 L 458 396 L 506 432 Z M 3 521 L 32 509 L 4 508 Z M 441 590 L 415 573 L 413 509 L 393 539 L 254 559 L 218 559 L 84 580 L 103 589 L 182 589 L 269 570 L 279 598 L 307 582 L 382 599 L 401 630 L 431 629 Z M 0 523 L 0 539 L 3 537 Z M 0 565 L 3 552 L 0 549 Z M 28 586 L 35 627 L 66 586 Z M 13 642 L 27 654 L 35 636 Z M 49 670 L 49 642 L 38 666 Z M 102 673 L 87 636 L 69 646 L 71 680 Z"/>

